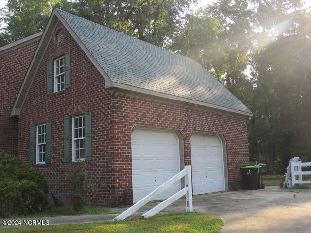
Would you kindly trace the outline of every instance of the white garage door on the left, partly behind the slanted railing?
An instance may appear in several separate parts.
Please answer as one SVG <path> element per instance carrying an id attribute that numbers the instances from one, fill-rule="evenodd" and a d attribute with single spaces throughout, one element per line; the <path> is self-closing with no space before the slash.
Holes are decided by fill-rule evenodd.
<path id="1" fill-rule="evenodd" d="M 137 202 L 180 171 L 179 141 L 169 131 L 136 129 L 132 133 L 133 202 Z M 180 190 L 175 183 L 155 200 Z"/>

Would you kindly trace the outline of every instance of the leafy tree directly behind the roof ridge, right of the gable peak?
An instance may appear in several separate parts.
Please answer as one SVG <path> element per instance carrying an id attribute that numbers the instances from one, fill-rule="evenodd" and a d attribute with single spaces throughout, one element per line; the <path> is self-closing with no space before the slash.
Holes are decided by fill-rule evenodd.
<path id="1" fill-rule="evenodd" d="M 197 0 L 74 0 L 58 6 L 106 27 L 154 45 L 172 38 L 182 12 Z"/>

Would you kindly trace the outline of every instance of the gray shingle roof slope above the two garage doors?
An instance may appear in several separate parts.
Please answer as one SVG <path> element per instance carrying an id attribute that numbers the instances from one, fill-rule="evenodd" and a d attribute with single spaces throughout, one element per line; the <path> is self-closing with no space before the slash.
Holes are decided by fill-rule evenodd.
<path id="1" fill-rule="evenodd" d="M 194 60 L 57 9 L 113 83 L 245 113 L 251 111 Z"/>

